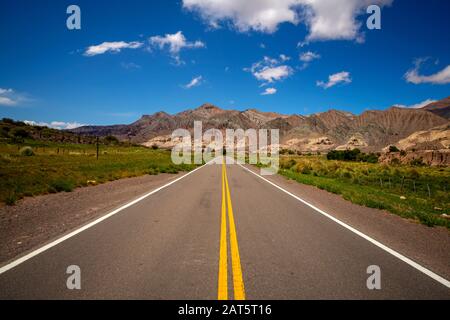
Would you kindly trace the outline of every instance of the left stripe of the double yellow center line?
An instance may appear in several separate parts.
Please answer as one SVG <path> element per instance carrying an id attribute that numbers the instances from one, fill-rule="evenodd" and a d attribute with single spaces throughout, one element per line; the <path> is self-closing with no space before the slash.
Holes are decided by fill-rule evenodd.
<path id="1" fill-rule="evenodd" d="M 220 227 L 220 257 L 218 299 L 228 300 L 228 257 L 227 257 L 227 209 L 225 196 L 225 167 L 222 165 L 222 222 Z"/>

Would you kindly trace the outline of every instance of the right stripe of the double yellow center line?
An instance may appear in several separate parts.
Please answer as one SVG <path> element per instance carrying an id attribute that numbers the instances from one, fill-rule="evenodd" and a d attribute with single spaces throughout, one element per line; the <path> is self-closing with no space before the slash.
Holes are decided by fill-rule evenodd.
<path id="1" fill-rule="evenodd" d="M 230 222 L 231 265 L 233 270 L 234 300 L 245 300 L 244 280 L 242 278 L 241 258 L 234 224 L 233 206 L 231 204 L 230 188 L 228 186 L 227 169 L 223 164 L 225 187 L 227 191 L 228 218 Z"/>

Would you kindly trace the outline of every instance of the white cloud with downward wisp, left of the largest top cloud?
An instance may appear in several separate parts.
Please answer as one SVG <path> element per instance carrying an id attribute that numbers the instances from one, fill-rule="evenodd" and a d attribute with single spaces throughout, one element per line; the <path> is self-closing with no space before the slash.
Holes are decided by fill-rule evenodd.
<path id="1" fill-rule="evenodd" d="M 166 34 L 164 36 L 153 36 L 150 38 L 150 45 L 158 47 L 160 50 L 168 48 L 170 55 L 174 58 L 176 64 L 183 64 L 180 58 L 180 51 L 183 49 L 205 48 L 206 45 L 202 41 L 190 42 L 183 35 L 182 31 L 174 34 Z"/>

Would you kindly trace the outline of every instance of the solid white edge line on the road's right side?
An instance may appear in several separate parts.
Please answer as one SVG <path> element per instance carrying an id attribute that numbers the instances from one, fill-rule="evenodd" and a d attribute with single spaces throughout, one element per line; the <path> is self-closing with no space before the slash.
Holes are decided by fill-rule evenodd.
<path id="1" fill-rule="evenodd" d="M 266 181 L 267 183 L 271 184 L 271 185 L 274 186 L 275 188 L 277 188 L 277 189 L 283 191 L 284 193 L 290 195 L 291 197 L 293 197 L 293 198 L 297 199 L 298 201 L 302 202 L 303 204 L 307 205 L 308 207 L 310 207 L 310 208 L 316 210 L 317 212 L 319 212 L 320 214 L 324 215 L 325 217 L 327 217 L 327 218 L 333 220 L 334 222 L 336 222 L 337 224 L 341 225 L 342 227 L 344 227 L 344 228 L 350 230 L 351 232 L 357 234 L 357 235 L 360 236 L 361 238 L 366 239 L 367 241 L 371 242 L 372 244 L 374 244 L 375 246 L 379 247 L 380 249 L 382 249 L 382 250 L 386 251 L 387 253 L 393 255 L 394 257 L 400 259 L 401 261 L 403 261 L 403 262 L 409 264 L 411 267 L 413 267 L 413 268 L 419 270 L 420 272 L 426 274 L 427 276 L 429 276 L 430 278 L 436 280 L 436 281 L 439 282 L 440 284 L 446 286 L 447 288 L 450 288 L 450 281 L 448 281 L 447 279 L 441 277 L 440 275 L 434 273 L 434 272 L 431 271 L 431 270 L 428 270 L 428 269 L 425 268 L 425 267 L 422 267 L 422 266 L 421 266 L 420 264 L 418 264 L 417 262 L 414 262 L 413 260 L 411 260 L 411 259 L 405 257 L 404 255 L 398 253 L 397 251 L 395 251 L 395 250 L 393 250 L 393 249 L 391 249 L 391 248 L 385 246 L 385 245 L 382 244 L 381 242 L 378 242 L 377 240 L 375 240 L 375 239 L 369 237 L 368 235 L 362 233 L 361 231 L 356 230 L 355 228 L 353 228 L 353 227 L 349 226 L 348 224 L 342 222 L 341 220 L 339 220 L 339 219 L 333 217 L 332 215 L 326 213 L 325 211 L 323 211 L 323 210 L 317 208 L 316 206 L 310 204 L 309 202 L 303 200 L 302 198 L 296 196 L 295 194 L 293 194 L 293 193 L 291 193 L 291 192 L 289 192 L 289 191 L 283 189 L 282 187 L 276 185 L 276 184 L 273 183 L 272 181 L 270 181 L 270 180 L 268 180 L 268 179 L 266 179 L 266 178 L 260 176 L 259 174 L 253 172 L 252 170 L 250 170 L 250 169 L 244 167 L 243 165 L 241 165 L 241 164 L 239 164 L 239 165 L 240 165 L 242 168 L 244 168 L 245 170 L 247 170 L 248 172 L 250 172 L 250 173 L 254 174 L 255 176 L 257 176 L 258 178 L 261 178 L 262 180 L 264 180 L 264 181 Z"/>

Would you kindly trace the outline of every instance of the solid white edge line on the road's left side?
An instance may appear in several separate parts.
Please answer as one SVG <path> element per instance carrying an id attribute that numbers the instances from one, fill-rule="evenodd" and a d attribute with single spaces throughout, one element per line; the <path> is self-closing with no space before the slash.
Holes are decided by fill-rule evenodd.
<path id="1" fill-rule="evenodd" d="M 215 160 L 215 159 L 214 159 L 214 160 Z M 214 160 L 208 162 L 206 165 L 209 165 L 209 164 L 212 163 Z M 202 169 L 202 168 L 205 167 L 206 165 L 202 165 L 201 167 L 198 167 L 198 168 L 196 168 L 196 169 L 194 169 L 194 170 L 188 172 L 188 173 L 185 174 L 184 176 L 179 177 L 178 179 L 175 179 L 175 180 L 173 180 L 173 181 L 171 181 L 171 182 L 169 182 L 169 183 L 163 185 L 162 187 L 159 187 L 159 188 L 157 188 L 157 189 L 155 189 L 155 190 L 153 190 L 153 191 L 151 191 L 151 192 L 149 192 L 149 193 L 147 193 L 147 194 L 141 196 L 140 198 L 138 198 L 138 199 L 136 199 L 136 200 L 133 200 L 133 201 L 131 201 L 131 202 L 129 202 L 129 203 L 123 205 L 122 207 L 120 207 L 120 208 L 118 208 L 118 209 L 116 209 L 116 210 L 114 210 L 114 211 L 111 211 L 110 213 L 108 213 L 108 214 L 106 214 L 106 215 L 104 215 L 104 216 L 98 218 L 97 220 L 92 221 L 91 223 L 88 223 L 88 224 L 86 224 L 85 226 L 83 226 L 83 227 L 81 227 L 81 228 L 79 228 L 79 229 L 76 229 L 76 230 L 70 232 L 69 234 L 67 234 L 67 235 L 65 235 L 65 236 L 63 236 L 63 237 L 61 237 L 61 238 L 59 238 L 59 239 L 57 239 L 57 240 L 55 240 L 55 241 L 53 241 L 53 242 L 50 242 L 49 244 L 47 244 L 47 245 L 45 245 L 45 246 L 43 246 L 43 247 L 41 247 L 41 248 L 39 248 L 39 249 L 36 249 L 36 250 L 30 252 L 29 254 L 27 254 L 27 255 L 25 255 L 25 256 L 23 256 L 23 257 L 17 259 L 17 260 L 14 260 L 13 262 L 11 262 L 11 263 L 9 263 L 9 264 L 7 264 L 7 265 L 5 265 L 5 266 L 3 266 L 3 267 L 0 268 L 0 275 L 3 274 L 3 273 L 5 273 L 5 272 L 7 272 L 7 271 L 9 271 L 9 270 L 11 270 L 11 269 L 13 269 L 13 268 L 15 268 L 15 267 L 17 267 L 18 265 L 24 263 L 25 261 L 30 260 L 31 258 L 33 258 L 33 257 L 35 257 L 35 256 L 37 256 L 37 255 L 39 255 L 39 254 L 41 254 L 41 253 L 43 253 L 43 252 L 45 252 L 45 251 L 47 251 L 47 250 L 49 250 L 49 249 L 51 249 L 51 248 L 57 246 L 57 245 L 60 244 L 61 242 L 64 242 L 64 241 L 66 241 L 67 239 L 70 239 L 70 238 L 76 236 L 77 234 L 79 234 L 79 233 L 81 233 L 81 232 L 83 232 L 83 231 L 85 231 L 85 230 L 87 230 L 87 229 L 89 229 L 89 228 L 92 228 L 92 227 L 95 226 L 96 224 L 99 224 L 100 222 L 105 221 L 105 220 L 108 219 L 108 218 L 111 218 L 113 215 L 115 215 L 115 214 L 117 214 L 117 213 L 119 213 L 119 212 L 121 212 L 121 211 L 123 211 L 123 210 L 125 210 L 125 209 L 127 209 L 127 208 L 129 208 L 129 207 L 131 207 L 131 206 L 133 206 L 133 205 L 135 205 L 136 203 L 138 203 L 138 202 L 140 202 L 140 201 L 142 201 L 142 200 L 144 200 L 144 199 L 150 197 L 151 195 L 153 195 L 153 194 L 155 194 L 155 193 L 157 193 L 157 192 L 159 192 L 159 191 L 161 191 L 161 190 L 163 190 L 163 189 L 166 189 L 167 187 L 173 185 L 174 183 L 176 183 L 176 182 L 178 182 L 178 181 L 180 181 L 180 180 L 186 178 L 187 176 L 193 174 L 193 173 L 196 172 L 197 170 Z"/>

